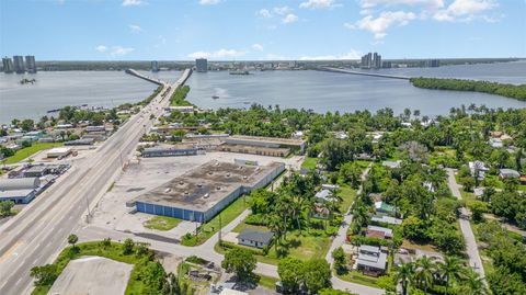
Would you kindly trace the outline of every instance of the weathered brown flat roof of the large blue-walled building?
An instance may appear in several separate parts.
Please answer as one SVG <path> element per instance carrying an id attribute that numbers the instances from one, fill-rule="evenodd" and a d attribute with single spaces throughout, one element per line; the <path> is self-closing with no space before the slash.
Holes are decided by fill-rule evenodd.
<path id="1" fill-rule="evenodd" d="M 240 186 L 253 186 L 284 163 L 244 166 L 206 162 L 139 195 L 136 201 L 206 212 Z"/>

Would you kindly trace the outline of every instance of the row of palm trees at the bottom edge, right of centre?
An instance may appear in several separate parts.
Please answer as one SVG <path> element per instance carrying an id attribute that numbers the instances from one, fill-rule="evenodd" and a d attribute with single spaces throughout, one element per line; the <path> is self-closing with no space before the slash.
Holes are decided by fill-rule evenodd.
<path id="1" fill-rule="evenodd" d="M 435 284 L 444 284 L 444 294 L 448 294 L 453 282 L 459 283 L 458 293 L 462 295 L 485 295 L 484 280 L 471 268 L 462 265 L 457 257 L 446 257 L 438 262 L 433 257 L 422 257 L 414 262 L 401 263 L 395 273 L 395 282 L 400 284 L 407 295 L 410 286 L 427 294 Z"/>

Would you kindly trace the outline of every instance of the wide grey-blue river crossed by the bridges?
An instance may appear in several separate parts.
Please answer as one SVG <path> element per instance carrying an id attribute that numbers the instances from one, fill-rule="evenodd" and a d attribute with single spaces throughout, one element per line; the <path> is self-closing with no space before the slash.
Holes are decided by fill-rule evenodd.
<path id="1" fill-rule="evenodd" d="M 526 82 L 526 63 L 385 69 L 385 73 L 455 77 L 510 83 Z M 173 82 L 181 72 L 147 75 Z M 34 84 L 20 84 L 23 78 Z M 194 72 L 187 80 L 188 100 L 204 109 L 248 107 L 251 103 L 316 112 L 354 112 L 391 107 L 420 110 L 422 115 L 448 114 L 453 106 L 471 103 L 489 107 L 526 107 L 526 102 L 473 92 L 438 91 L 412 87 L 408 81 L 315 70 L 254 71 L 248 76 L 227 71 Z M 115 106 L 148 97 L 157 86 L 124 71 L 39 71 L 36 75 L 0 73 L 0 123 L 37 118 L 65 105 Z M 211 97 L 219 99 L 214 100 Z"/>

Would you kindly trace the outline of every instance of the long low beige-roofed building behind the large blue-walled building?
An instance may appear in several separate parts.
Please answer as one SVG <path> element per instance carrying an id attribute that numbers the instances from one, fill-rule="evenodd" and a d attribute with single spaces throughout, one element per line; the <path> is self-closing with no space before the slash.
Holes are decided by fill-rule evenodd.
<path id="1" fill-rule="evenodd" d="M 291 138 L 275 138 L 275 137 L 260 137 L 260 136 L 245 136 L 245 135 L 235 135 L 228 138 L 225 138 L 225 144 L 227 145 L 239 145 L 239 146 L 251 146 L 251 147 L 265 147 L 265 148 L 288 148 L 290 150 L 296 150 L 299 154 L 305 152 L 307 143 L 302 139 L 291 139 Z"/>

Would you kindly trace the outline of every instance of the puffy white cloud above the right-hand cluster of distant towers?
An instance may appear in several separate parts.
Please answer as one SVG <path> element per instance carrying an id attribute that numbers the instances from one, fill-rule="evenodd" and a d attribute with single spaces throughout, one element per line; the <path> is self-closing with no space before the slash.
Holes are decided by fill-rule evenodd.
<path id="1" fill-rule="evenodd" d="M 378 18 L 367 15 L 354 24 L 345 23 L 344 26 L 352 30 L 365 30 L 375 34 L 376 39 L 380 39 L 387 35 L 387 30 L 392 25 L 407 25 L 416 15 L 412 12 L 404 11 L 387 11 L 381 12 Z"/>

